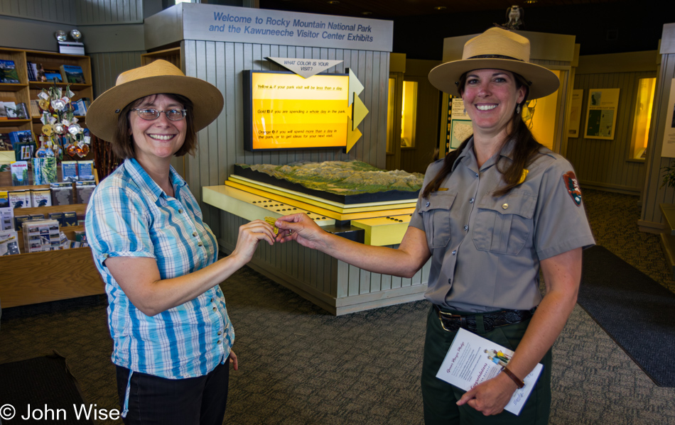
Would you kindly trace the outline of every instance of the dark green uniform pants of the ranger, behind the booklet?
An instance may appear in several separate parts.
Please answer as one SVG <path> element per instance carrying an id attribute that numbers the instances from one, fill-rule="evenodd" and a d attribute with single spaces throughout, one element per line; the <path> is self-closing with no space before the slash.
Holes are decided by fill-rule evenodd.
<path id="1" fill-rule="evenodd" d="M 476 333 L 483 338 L 515 351 L 522 339 L 529 319 L 518 324 L 500 326 L 490 332 L 482 329 Z M 424 359 L 422 363 L 422 399 L 424 404 L 424 423 L 426 425 L 546 425 L 549 423 L 551 409 L 551 350 L 540 363 L 544 370 L 539 375 L 534 390 L 530 394 L 519 416 L 511 412 L 502 412 L 494 416 L 484 416 L 468 404 L 455 404 L 464 394 L 463 390 L 436 377 L 446 357 L 456 332 L 448 332 L 441 327 L 438 311 L 431 307 L 427 316 Z"/>

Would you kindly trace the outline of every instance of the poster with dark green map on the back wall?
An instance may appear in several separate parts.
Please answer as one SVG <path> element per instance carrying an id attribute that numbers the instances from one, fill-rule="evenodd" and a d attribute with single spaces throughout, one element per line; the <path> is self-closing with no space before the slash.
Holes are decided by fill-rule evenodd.
<path id="1" fill-rule="evenodd" d="M 588 90 L 584 138 L 614 139 L 619 89 Z"/>

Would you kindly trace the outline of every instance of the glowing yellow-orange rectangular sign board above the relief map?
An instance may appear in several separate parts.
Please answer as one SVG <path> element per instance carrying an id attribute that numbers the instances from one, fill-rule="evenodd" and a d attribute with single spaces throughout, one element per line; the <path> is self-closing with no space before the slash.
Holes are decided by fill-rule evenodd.
<path id="1" fill-rule="evenodd" d="M 244 72 L 244 148 L 345 148 L 349 74 Z"/>

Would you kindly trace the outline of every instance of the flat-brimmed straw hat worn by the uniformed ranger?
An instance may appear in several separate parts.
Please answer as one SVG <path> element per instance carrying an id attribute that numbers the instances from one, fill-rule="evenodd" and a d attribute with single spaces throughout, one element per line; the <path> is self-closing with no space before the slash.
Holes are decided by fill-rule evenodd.
<path id="1" fill-rule="evenodd" d="M 493 27 L 464 45 L 462 60 L 453 60 L 433 68 L 429 82 L 450 94 L 459 94 L 456 82 L 473 70 L 506 70 L 520 74 L 528 82 L 528 99 L 539 99 L 555 92 L 560 85 L 556 74 L 529 62 L 529 40 L 522 35 Z"/>

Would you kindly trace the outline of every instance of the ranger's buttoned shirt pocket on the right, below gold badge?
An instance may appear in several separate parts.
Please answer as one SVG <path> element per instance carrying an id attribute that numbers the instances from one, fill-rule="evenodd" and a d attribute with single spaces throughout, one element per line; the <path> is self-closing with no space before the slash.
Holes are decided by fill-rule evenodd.
<path id="1" fill-rule="evenodd" d="M 513 189 L 503 197 L 482 199 L 473 225 L 476 249 L 518 255 L 534 228 L 536 198 L 532 192 Z"/>

